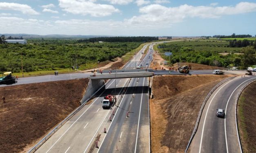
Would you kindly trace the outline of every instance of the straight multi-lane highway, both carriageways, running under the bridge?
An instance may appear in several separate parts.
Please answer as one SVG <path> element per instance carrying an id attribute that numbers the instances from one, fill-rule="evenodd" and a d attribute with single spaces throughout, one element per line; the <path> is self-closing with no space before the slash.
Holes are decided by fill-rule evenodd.
<path id="1" fill-rule="evenodd" d="M 146 46 L 138 52 L 135 59 L 132 59 L 129 64 L 136 68 L 141 59 Z M 148 56 L 148 55 L 146 55 Z M 145 57 L 146 58 L 146 57 Z M 148 58 L 148 57 L 147 57 Z M 148 58 L 150 61 L 152 58 Z M 125 67 L 129 67 L 129 64 Z M 90 105 L 85 105 L 77 114 L 75 114 L 69 121 L 65 123 L 56 133 L 54 133 L 40 148 L 36 151 L 38 153 L 86 153 L 91 148 L 95 137 L 98 133 L 101 133 L 102 140 L 101 148 L 106 144 L 113 142 L 110 146 L 116 145 L 115 138 L 111 135 L 117 136 L 120 129 L 122 136 L 120 139 L 128 139 L 130 146 L 134 149 L 134 152 L 138 152 L 141 149 L 140 146 L 145 146 L 144 152 L 149 152 L 149 104 L 148 104 L 148 79 L 113 79 L 106 85 L 106 90 L 98 93 L 98 98 L 94 99 Z M 116 85 L 116 86 L 115 86 Z M 145 87 L 143 87 L 145 86 Z M 125 90 L 125 94 L 122 92 Z M 111 107 L 111 109 L 102 109 L 103 97 L 107 94 L 117 96 L 117 105 L 119 107 Z M 132 98 L 134 97 L 134 98 Z M 113 114 L 114 110 L 114 114 Z M 129 117 L 126 117 L 126 113 L 129 111 Z M 109 117 L 112 117 L 112 121 Z M 127 125 L 127 126 L 125 126 Z M 106 128 L 107 134 L 103 133 L 103 129 Z M 117 128 L 117 129 L 116 129 Z M 127 128 L 127 131 L 125 130 Z M 132 128 L 133 130 L 129 129 Z M 147 132 L 145 132 L 145 129 Z M 111 132 L 111 130 L 113 132 Z M 130 137 L 128 131 L 134 133 L 134 137 Z M 115 137 L 114 136 L 114 137 Z M 103 141 L 103 139 L 105 139 Z M 118 139 L 117 139 L 118 140 Z M 135 141 L 135 142 L 133 142 Z M 121 142 L 121 141 L 120 141 Z M 122 141 L 123 142 L 123 141 Z M 118 144 L 119 145 L 119 144 Z M 108 147 L 110 147 L 108 145 Z M 121 145 L 120 147 L 125 147 Z M 109 148 L 109 152 L 112 152 Z M 121 148 L 120 148 L 121 149 Z M 102 150 L 103 151 L 103 150 Z M 105 150 L 106 151 L 106 150 Z"/>

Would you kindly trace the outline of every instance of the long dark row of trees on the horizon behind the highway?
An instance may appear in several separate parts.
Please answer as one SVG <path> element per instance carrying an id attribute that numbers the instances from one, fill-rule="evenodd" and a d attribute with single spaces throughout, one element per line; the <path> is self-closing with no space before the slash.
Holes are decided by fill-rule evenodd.
<path id="1" fill-rule="evenodd" d="M 79 39 L 78 42 L 151 42 L 158 40 L 158 37 L 95 37 Z"/>

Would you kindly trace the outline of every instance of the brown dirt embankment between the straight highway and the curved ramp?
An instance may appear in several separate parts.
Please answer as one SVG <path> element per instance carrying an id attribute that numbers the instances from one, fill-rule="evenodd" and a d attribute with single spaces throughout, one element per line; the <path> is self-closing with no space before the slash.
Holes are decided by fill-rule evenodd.
<path id="1" fill-rule="evenodd" d="M 227 75 L 154 77 L 150 100 L 151 151 L 184 153 L 200 107 L 210 90 Z"/>

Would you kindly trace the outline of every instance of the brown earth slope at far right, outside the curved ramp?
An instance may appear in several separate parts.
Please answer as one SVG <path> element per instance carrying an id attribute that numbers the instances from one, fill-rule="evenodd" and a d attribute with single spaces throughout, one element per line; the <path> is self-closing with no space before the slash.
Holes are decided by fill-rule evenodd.
<path id="1" fill-rule="evenodd" d="M 244 153 L 256 152 L 256 82 L 245 88 L 238 102 L 238 129 Z"/>

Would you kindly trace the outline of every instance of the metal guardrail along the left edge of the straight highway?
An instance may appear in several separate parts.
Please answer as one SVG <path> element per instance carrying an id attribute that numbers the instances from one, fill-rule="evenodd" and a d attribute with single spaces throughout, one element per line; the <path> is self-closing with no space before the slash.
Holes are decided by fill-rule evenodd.
<path id="1" fill-rule="evenodd" d="M 109 83 L 110 80 L 108 80 L 104 85 L 102 85 L 102 87 L 104 87 L 107 83 Z M 102 88 L 100 87 L 100 89 Z M 71 114 L 69 114 L 69 116 L 67 116 L 64 120 L 62 120 L 62 122 L 60 122 L 60 124 L 58 124 L 53 130 L 51 130 L 44 138 L 42 138 L 42 140 L 40 140 L 35 146 L 33 146 L 33 148 L 31 148 L 27 153 L 33 153 L 35 152 L 40 146 L 42 146 L 42 144 L 44 144 L 56 131 L 58 131 L 58 129 L 60 129 L 60 127 L 62 127 L 62 125 L 64 125 L 72 116 L 74 116 L 80 109 L 82 109 L 82 107 L 84 107 L 87 102 L 100 90 L 98 89 L 96 92 L 94 92 L 93 95 L 91 95 L 90 98 L 88 98 L 84 103 L 82 103 L 82 105 L 80 105 L 77 109 L 75 109 L 74 111 L 71 112 Z"/>

